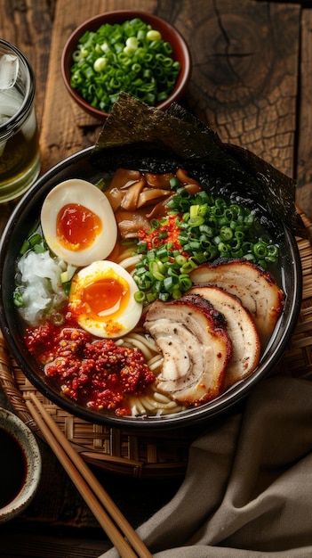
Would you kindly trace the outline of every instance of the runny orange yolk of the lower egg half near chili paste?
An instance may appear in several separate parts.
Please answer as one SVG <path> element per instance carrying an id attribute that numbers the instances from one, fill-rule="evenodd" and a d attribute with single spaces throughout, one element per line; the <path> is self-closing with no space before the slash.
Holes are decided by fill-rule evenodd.
<path id="1" fill-rule="evenodd" d="M 87 315 L 111 317 L 124 311 L 129 296 L 129 286 L 126 282 L 121 283 L 116 279 L 103 278 L 84 286 L 81 302 Z"/>

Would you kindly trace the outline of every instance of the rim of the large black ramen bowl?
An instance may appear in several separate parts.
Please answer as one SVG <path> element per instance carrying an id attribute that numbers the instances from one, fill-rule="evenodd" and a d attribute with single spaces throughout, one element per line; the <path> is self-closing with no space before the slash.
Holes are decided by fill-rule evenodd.
<path id="1" fill-rule="evenodd" d="M 36 183 L 31 186 L 23 198 L 20 200 L 16 208 L 14 209 L 12 216 L 10 217 L 7 226 L 4 229 L 4 234 L 0 241 L 0 279 L 3 279 L 4 269 L 5 269 L 5 258 L 8 251 L 8 245 L 10 243 L 11 236 L 13 234 L 14 227 L 16 226 L 19 218 L 24 215 L 25 205 L 28 207 L 29 201 L 32 203 L 38 203 L 38 201 L 46 195 L 49 191 L 47 185 L 50 181 L 58 176 L 58 174 L 65 169 L 75 166 L 84 161 L 89 162 L 89 156 L 92 153 L 94 146 L 85 148 L 80 152 L 76 152 L 65 160 L 60 161 L 57 165 L 48 170 L 43 176 L 41 176 Z M 91 167 L 90 167 L 91 168 Z M 94 168 L 93 168 L 94 171 Z M 94 171 L 95 172 L 95 171 Z M 62 181 L 61 178 L 58 182 Z M 44 191 L 44 185 L 45 190 Z M 55 185 L 55 183 L 54 183 Z M 50 186 L 52 189 L 53 185 Z M 283 223 L 283 234 L 285 242 L 287 242 L 290 250 L 290 268 L 287 268 L 287 277 L 290 273 L 293 276 L 292 293 L 291 297 L 287 295 L 287 300 L 291 304 L 289 312 L 287 315 L 286 326 L 282 329 L 279 324 L 284 316 L 280 316 L 277 324 L 275 334 L 272 336 L 272 341 L 269 343 L 268 348 L 264 351 L 261 357 L 260 365 L 257 367 L 256 371 L 250 376 L 237 382 L 232 388 L 221 394 L 218 398 L 212 399 L 212 401 L 204 404 L 203 406 L 193 407 L 187 409 L 186 411 L 180 411 L 177 414 L 167 414 L 160 416 L 123 416 L 117 417 L 113 415 L 104 415 L 90 409 L 86 409 L 82 406 L 76 405 L 76 403 L 71 400 L 64 398 L 60 393 L 52 392 L 49 387 L 42 382 L 39 376 L 31 370 L 28 365 L 27 358 L 20 353 L 19 346 L 16 341 L 12 338 L 10 332 L 10 313 L 5 313 L 4 310 L 4 297 L 2 296 L 4 289 L 0 293 L 0 327 L 2 328 L 4 339 L 7 342 L 9 348 L 12 351 L 12 355 L 15 358 L 20 368 L 23 370 L 25 375 L 28 376 L 29 381 L 36 387 L 38 391 L 41 392 L 45 397 L 52 400 L 52 402 L 60 408 L 63 408 L 70 414 L 75 414 L 76 416 L 93 423 L 105 424 L 108 426 L 115 426 L 116 428 L 127 428 L 136 431 L 164 431 L 164 430 L 174 430 L 180 428 L 181 426 L 196 427 L 200 423 L 208 423 L 220 414 L 228 412 L 233 407 L 237 406 L 249 393 L 253 387 L 260 382 L 260 380 L 269 373 L 269 371 L 278 364 L 279 360 L 283 356 L 284 350 L 286 349 L 288 342 L 292 336 L 292 332 L 297 324 L 300 315 L 300 305 L 302 299 L 302 269 L 300 261 L 300 252 L 298 244 L 296 242 L 295 235 L 292 231 L 284 225 Z M 3 280 L 2 280 L 2 283 Z M 268 355 L 270 345 L 274 343 L 275 335 L 279 336 L 278 347 L 273 351 L 271 355 Z M 277 350 L 278 349 L 278 350 Z M 26 351 L 28 352 L 28 351 Z M 268 360 L 267 360 L 268 358 Z M 266 370 L 268 367 L 268 370 Z"/>

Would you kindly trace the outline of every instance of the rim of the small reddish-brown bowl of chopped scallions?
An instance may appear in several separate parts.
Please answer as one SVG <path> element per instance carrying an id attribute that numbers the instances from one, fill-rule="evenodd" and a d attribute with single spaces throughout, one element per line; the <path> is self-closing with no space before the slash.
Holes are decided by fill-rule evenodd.
<path id="1" fill-rule="evenodd" d="M 156 108 L 157 109 L 161 109 L 164 110 L 166 109 L 173 101 L 179 101 L 185 88 L 188 86 L 188 82 L 191 78 L 191 73 L 192 73 L 192 57 L 191 57 L 191 53 L 190 53 L 190 49 L 188 46 L 188 43 L 186 42 L 185 38 L 181 35 L 179 29 L 177 29 L 174 25 L 172 25 L 172 23 L 170 23 L 169 21 L 164 20 L 163 18 L 160 18 L 159 16 L 157 16 L 154 13 L 149 13 L 149 12 L 144 12 L 142 10 L 113 10 L 110 12 L 102 12 L 99 13 L 91 18 L 89 18 L 88 20 L 83 21 L 82 23 L 80 23 L 76 29 L 74 29 L 74 31 L 70 34 L 70 36 L 68 37 L 64 48 L 62 50 L 61 53 L 61 57 L 60 57 L 60 70 L 61 70 L 61 76 L 63 78 L 63 82 L 64 85 L 66 86 L 68 93 L 70 94 L 70 96 L 72 97 L 72 99 L 74 99 L 76 101 L 76 103 L 86 112 L 88 112 L 90 115 L 92 115 L 93 117 L 100 119 L 100 120 L 106 120 L 108 118 L 109 113 L 105 112 L 105 111 L 100 111 L 100 109 L 96 109 L 93 108 L 90 103 L 87 103 L 86 101 L 84 101 L 84 98 L 78 94 L 76 92 L 76 90 L 70 86 L 69 83 L 69 69 L 68 69 L 68 63 L 67 63 L 67 59 L 68 59 L 68 49 L 69 46 L 72 44 L 72 42 L 75 40 L 77 41 L 78 37 L 80 37 L 80 35 L 83 33 L 85 27 L 87 27 L 88 25 L 92 25 L 92 27 L 96 26 L 96 22 L 97 21 L 101 21 L 101 19 L 103 18 L 103 16 L 108 16 L 109 17 L 120 17 L 120 18 L 129 18 L 129 17 L 141 17 L 142 20 L 144 20 L 144 18 L 148 18 L 150 21 L 155 21 L 157 22 L 161 22 L 162 26 L 164 27 L 164 29 L 166 29 L 168 31 L 168 33 L 173 33 L 176 37 L 176 39 L 179 41 L 179 45 L 180 45 L 180 50 L 183 53 L 183 72 L 180 73 L 180 77 L 178 78 L 178 82 L 175 86 L 175 88 L 172 91 L 172 94 L 165 99 L 165 101 L 163 101 L 162 103 L 158 103 L 156 104 Z"/>

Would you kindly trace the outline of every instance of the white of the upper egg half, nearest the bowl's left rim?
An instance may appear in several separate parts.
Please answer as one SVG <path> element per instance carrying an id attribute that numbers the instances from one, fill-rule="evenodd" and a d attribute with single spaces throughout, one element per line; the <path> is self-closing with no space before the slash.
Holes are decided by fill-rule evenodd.
<path id="1" fill-rule="evenodd" d="M 100 217 L 100 233 L 92 245 L 83 250 L 69 250 L 57 235 L 57 217 L 60 209 L 68 203 L 82 205 Z M 48 193 L 41 210 L 41 226 L 52 252 L 76 267 L 88 266 L 92 261 L 107 258 L 116 244 L 116 218 L 108 198 L 97 186 L 78 178 L 65 180 Z"/>

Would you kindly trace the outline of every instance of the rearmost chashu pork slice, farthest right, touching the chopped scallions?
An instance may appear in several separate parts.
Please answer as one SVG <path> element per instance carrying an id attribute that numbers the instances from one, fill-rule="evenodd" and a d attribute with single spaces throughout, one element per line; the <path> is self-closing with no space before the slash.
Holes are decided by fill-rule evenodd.
<path id="1" fill-rule="evenodd" d="M 190 278 L 236 295 L 251 312 L 261 343 L 268 342 L 284 308 L 284 291 L 272 275 L 247 259 L 228 259 L 196 267 Z"/>

